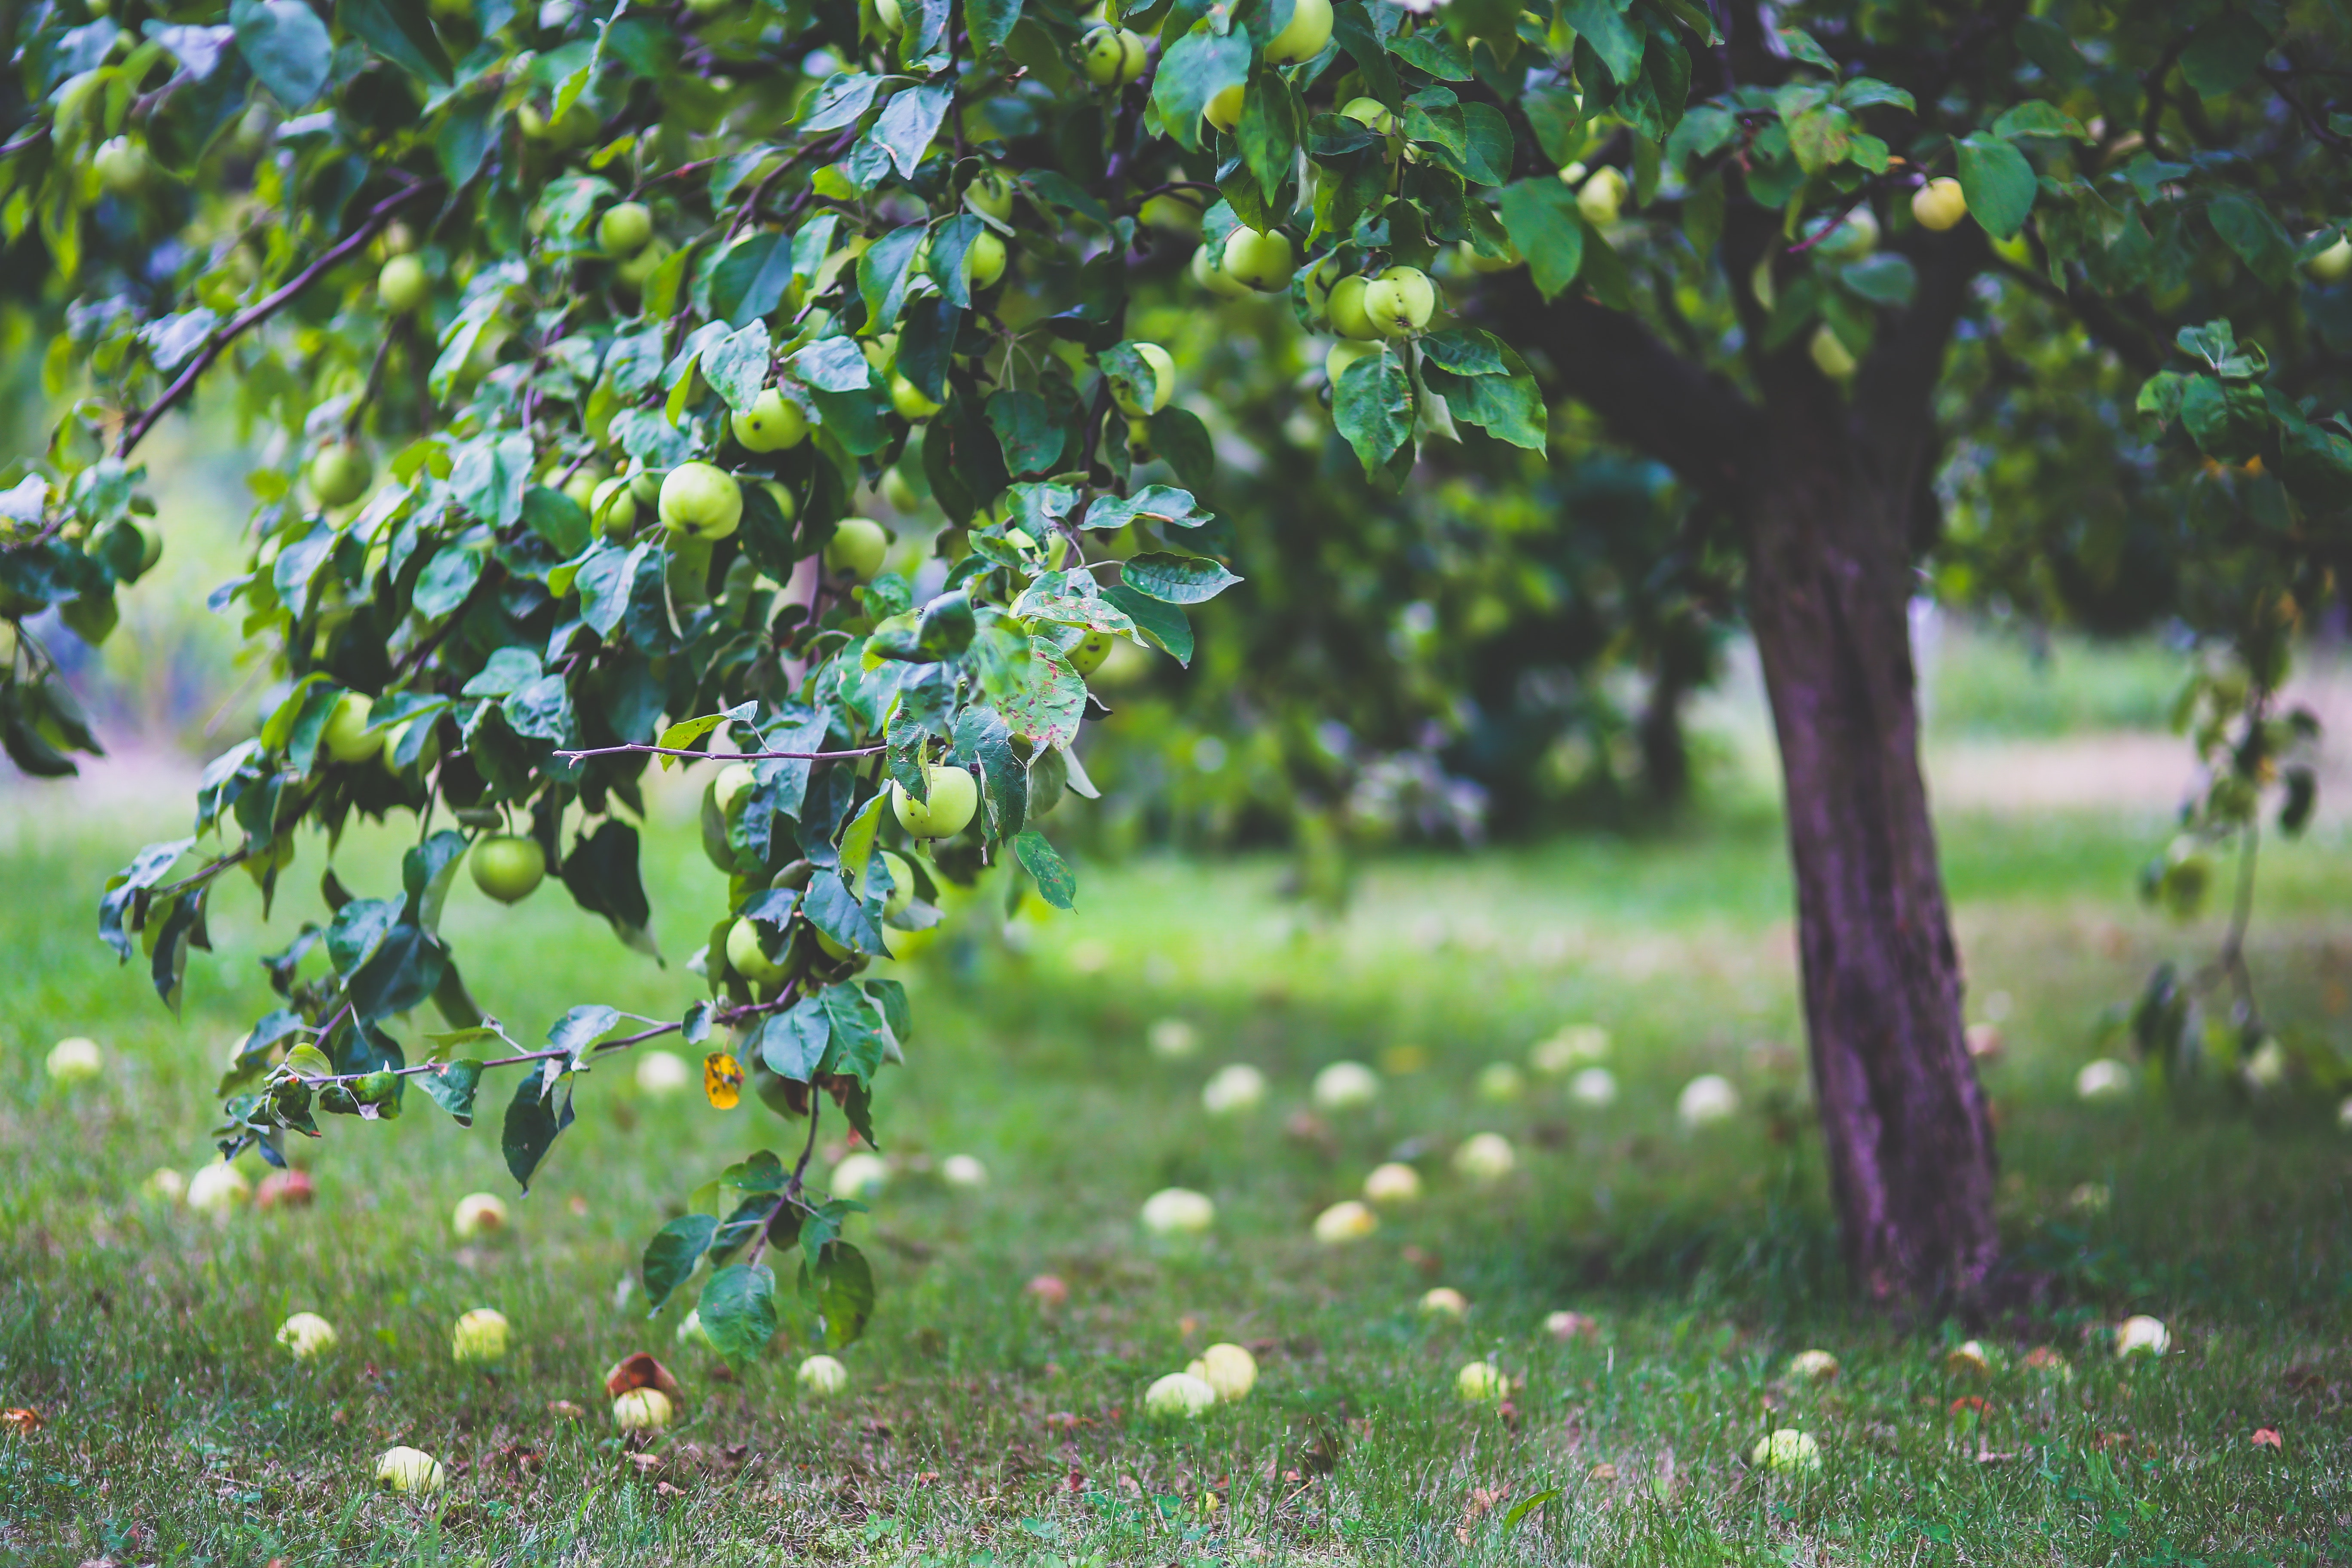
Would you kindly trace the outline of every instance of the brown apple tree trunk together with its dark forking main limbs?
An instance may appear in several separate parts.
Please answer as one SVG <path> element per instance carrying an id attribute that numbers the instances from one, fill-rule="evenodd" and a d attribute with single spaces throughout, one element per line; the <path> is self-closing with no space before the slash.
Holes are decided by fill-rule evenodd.
<path id="1" fill-rule="evenodd" d="M 1536 324 L 1531 348 L 1555 390 L 1743 529 L 1830 1190 L 1856 1288 L 1903 1307 L 1973 1298 L 1999 1253 L 1992 1128 L 1962 1032 L 1907 628 L 1929 395 L 1983 256 L 1955 240 L 1922 242 L 1912 259 L 1919 299 L 1889 322 L 1851 393 L 1813 371 L 1802 343 L 1750 357 L 1750 400 L 1590 301 L 1543 306 L 1522 282 L 1489 303 L 1519 341 Z M 1729 268 L 1748 275 L 1738 256 Z"/>

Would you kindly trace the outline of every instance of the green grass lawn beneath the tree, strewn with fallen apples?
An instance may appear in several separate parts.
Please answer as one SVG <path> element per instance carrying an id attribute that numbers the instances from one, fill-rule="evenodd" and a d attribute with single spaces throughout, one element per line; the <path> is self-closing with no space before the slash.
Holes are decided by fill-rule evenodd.
<path id="1" fill-rule="evenodd" d="M 696 1182 L 757 1147 L 790 1157 L 797 1128 L 748 1098 L 649 1100 L 626 1060 L 581 1084 L 501 1244 L 449 1232 L 461 1194 L 513 1192 L 496 1114 L 463 1131 L 421 1095 L 397 1126 L 332 1121 L 296 1152 L 310 1208 L 216 1225 L 143 1199 L 153 1166 L 205 1157 L 212 1079 L 268 1006 L 254 959 L 318 910 L 292 896 L 263 926 L 242 884 L 223 896 L 174 1020 L 92 914 L 106 872 L 172 825 L 28 799 L 0 849 L 0 1406 L 42 1425 L 0 1429 L 0 1563 L 2352 1561 L 2352 1138 L 2333 1105 L 2072 1098 L 2103 1009 L 2211 938 L 2129 900 L 2150 823 L 1945 823 L 1971 1013 L 2002 1016 L 2009 1044 L 1990 1084 L 2006 1237 L 2049 1276 L 2034 1314 L 1969 1331 L 1849 1312 L 1780 844 L 1724 813 L 1658 842 L 1388 860 L 1336 929 L 1301 926 L 1272 863 L 1084 865 L 1082 917 L 943 943 L 910 976 L 910 1065 L 877 1114 L 891 1185 L 851 1232 L 882 1305 L 844 1352 L 849 1389 L 818 1401 L 793 1380 L 807 1319 L 739 1380 L 673 1342 L 684 1300 L 647 1321 L 630 1288 Z M 691 999 L 680 959 L 720 879 L 682 806 L 649 846 L 668 969 L 553 886 L 515 912 L 452 896 L 445 931 L 520 1039 L 572 1001 Z M 395 882 L 395 849 L 353 839 L 336 863 L 365 891 Z M 306 839 L 296 886 L 320 853 Z M 2340 835 L 2279 856 L 2256 943 L 2272 1009 L 2338 1039 L 2347 872 Z M 1171 1016 L 1197 1030 L 1192 1060 L 1145 1046 Z M 1482 1067 L 1578 1020 L 1613 1034 L 1613 1107 L 1541 1077 L 1482 1098 Z M 111 1074 L 52 1088 L 61 1034 L 96 1037 Z M 1308 1117 L 1310 1074 L 1341 1058 L 1385 1067 L 1381 1100 Z M 1268 1103 L 1211 1119 L 1200 1088 L 1235 1060 L 1268 1074 Z M 1672 1105 L 1698 1072 L 1743 1107 L 1684 1133 Z M 1519 1154 L 1484 1190 L 1449 1166 L 1475 1131 Z M 828 1121 L 821 1159 L 835 1138 Z M 941 1182 L 948 1154 L 990 1185 Z M 1423 1201 L 1317 1246 L 1312 1215 L 1390 1157 L 1421 1166 Z M 2074 1204 L 2086 1182 L 2105 1208 Z M 1216 1199 L 1202 1244 L 1143 1237 L 1164 1185 Z M 1025 1293 L 1042 1272 L 1063 1307 Z M 1439 1284 L 1463 1321 L 1414 1309 Z M 494 1375 L 449 1356 L 477 1305 L 517 1331 Z M 273 1333 L 296 1309 L 341 1345 L 294 1363 Z M 1555 1340 L 1557 1309 L 1597 1333 Z M 2171 1356 L 2112 1359 L 2131 1312 L 2171 1326 Z M 1971 1333 L 1985 1378 L 1945 1359 Z M 1143 1387 L 1216 1340 L 1254 1347 L 1256 1392 L 1150 1425 Z M 1806 1347 L 1842 1375 L 1792 1382 Z M 2025 1366 L 2037 1347 L 2065 1368 Z M 647 1453 L 602 1399 L 633 1349 L 689 1396 Z M 1484 1354 L 1512 1380 L 1501 1408 L 1454 1392 Z M 1780 1427 L 1818 1441 L 1818 1472 L 1748 1465 Z M 435 1505 L 369 1486 L 390 1443 L 447 1465 Z"/>

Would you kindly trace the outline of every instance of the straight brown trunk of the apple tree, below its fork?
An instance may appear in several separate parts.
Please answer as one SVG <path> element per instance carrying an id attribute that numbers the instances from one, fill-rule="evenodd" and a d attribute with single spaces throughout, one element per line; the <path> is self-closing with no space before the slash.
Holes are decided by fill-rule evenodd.
<path id="1" fill-rule="evenodd" d="M 1853 1284 L 1884 1305 L 1966 1302 L 1999 1253 L 1994 1159 L 1919 776 L 1915 475 L 1875 473 L 1823 395 L 1771 402 L 1776 458 L 1748 505 L 1813 1093 Z"/>

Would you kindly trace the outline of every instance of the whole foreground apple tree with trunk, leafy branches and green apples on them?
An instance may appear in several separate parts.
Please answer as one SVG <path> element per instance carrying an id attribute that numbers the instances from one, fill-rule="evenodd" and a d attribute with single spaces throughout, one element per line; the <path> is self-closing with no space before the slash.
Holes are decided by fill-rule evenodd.
<path id="1" fill-rule="evenodd" d="M 593 1051 L 644 1034 L 576 1009 L 543 1048 L 473 1056 L 496 1046 L 433 931 L 437 889 L 461 853 L 510 891 L 557 865 L 642 943 L 647 743 L 731 729 L 762 757 L 706 806 L 736 877 L 699 959 L 715 999 L 649 1030 L 729 1025 L 715 1100 L 748 1067 L 788 1114 L 826 1091 L 870 1131 L 908 1018 L 866 957 L 1007 849 L 1068 900 L 1028 820 L 1065 780 L 1091 790 L 1068 750 L 1080 675 L 1115 637 L 1190 658 L 1183 607 L 1232 581 L 1195 498 L 1216 447 L 1169 402 L 1167 353 L 1129 336 L 1134 292 L 1287 294 L 1350 339 L 1331 418 L 1371 482 L 1404 487 L 1449 435 L 1465 470 L 1508 456 L 1482 442 L 1548 451 L 1548 388 L 1736 545 L 1846 1258 L 1877 1300 L 1976 1295 L 1992 1143 L 1905 639 L 1952 343 L 2039 310 L 2067 364 L 2157 371 L 2133 409 L 2159 477 L 2230 470 L 2183 548 L 2244 562 L 2216 625 L 2307 614 L 2352 475 L 2317 423 L 2333 362 L 2296 275 L 2352 261 L 2347 122 L 2321 101 L 2340 26 L 1682 0 L 1162 0 L 1101 26 L 1044 0 L 31 7 L 0 233 L 71 296 L 52 369 L 87 386 L 7 491 L 5 609 L 103 635 L 151 559 L 129 458 L 207 371 L 273 433 L 252 571 L 219 602 L 275 649 L 282 698 L 207 771 L 200 839 L 141 853 L 101 924 L 172 994 L 228 865 L 268 893 L 301 820 L 414 811 L 400 898 L 329 872 L 332 969 L 299 969 L 315 933 L 289 950 L 287 1006 L 223 1084 L 223 1143 L 381 1117 L 407 1077 L 470 1114 L 466 1063 L 515 1063 L 527 1178 Z M 1209 202 L 1188 282 L 1136 223 L 1178 197 Z M 1463 259 L 1465 324 L 1439 310 L 1439 254 Z M 1983 425 L 2013 404 L 1973 407 Z M 913 583 L 847 522 L 908 465 L 948 524 Z M 2253 649 L 2246 691 L 2277 668 Z M 31 642 L 7 705 L 38 766 L 87 745 Z M 2263 783 L 2251 717 L 2237 755 Z M 468 849 L 437 804 L 508 832 Z M 409 1065 L 381 1020 L 428 994 L 459 1027 L 433 1041 L 447 1060 Z M 727 1185 L 656 1239 L 656 1300 L 710 1248 L 797 1241 L 804 1300 L 854 1331 L 840 1206 L 774 1157 Z M 769 1295 L 729 1262 L 703 1319 L 743 1349 Z"/>

